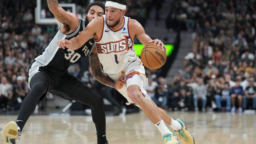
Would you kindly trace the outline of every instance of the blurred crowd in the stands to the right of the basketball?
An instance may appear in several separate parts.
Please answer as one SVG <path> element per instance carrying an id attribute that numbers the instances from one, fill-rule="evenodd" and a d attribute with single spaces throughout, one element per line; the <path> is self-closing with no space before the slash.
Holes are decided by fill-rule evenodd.
<path id="1" fill-rule="evenodd" d="M 180 0 L 174 4 L 173 18 L 182 19 L 182 29 L 194 33 L 184 70 L 171 84 L 170 97 L 178 106 L 176 102 L 171 106 L 232 113 L 255 110 L 256 1 Z"/>

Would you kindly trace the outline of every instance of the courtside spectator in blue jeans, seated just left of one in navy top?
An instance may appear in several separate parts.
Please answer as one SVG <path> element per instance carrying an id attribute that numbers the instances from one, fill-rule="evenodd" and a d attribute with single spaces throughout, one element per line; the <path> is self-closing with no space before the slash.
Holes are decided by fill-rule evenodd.
<path id="1" fill-rule="evenodd" d="M 230 111 L 231 109 L 231 100 L 230 100 L 230 86 L 228 82 L 224 83 L 224 87 L 220 88 L 219 93 L 216 95 L 215 101 L 217 108 L 222 110 L 222 102 L 226 102 L 226 111 Z"/>

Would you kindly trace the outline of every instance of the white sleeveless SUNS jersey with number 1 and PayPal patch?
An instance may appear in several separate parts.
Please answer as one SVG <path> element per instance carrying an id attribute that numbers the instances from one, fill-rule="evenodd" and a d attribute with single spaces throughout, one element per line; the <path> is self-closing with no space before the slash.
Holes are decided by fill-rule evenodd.
<path id="1" fill-rule="evenodd" d="M 125 71 L 129 62 L 136 60 L 133 38 L 130 35 L 130 18 L 123 16 L 122 25 L 114 30 L 106 25 L 106 17 L 102 16 L 101 36 L 96 42 L 100 63 L 107 74 Z"/>

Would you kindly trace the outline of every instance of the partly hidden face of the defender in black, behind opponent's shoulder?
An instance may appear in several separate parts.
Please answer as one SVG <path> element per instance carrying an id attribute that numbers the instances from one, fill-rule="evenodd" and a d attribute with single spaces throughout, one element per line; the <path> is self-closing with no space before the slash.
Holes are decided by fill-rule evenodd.
<path id="1" fill-rule="evenodd" d="M 87 15 L 84 18 L 87 18 L 88 21 L 92 21 L 94 18 L 101 17 L 104 15 L 104 10 L 100 6 L 92 6 L 88 11 Z"/>

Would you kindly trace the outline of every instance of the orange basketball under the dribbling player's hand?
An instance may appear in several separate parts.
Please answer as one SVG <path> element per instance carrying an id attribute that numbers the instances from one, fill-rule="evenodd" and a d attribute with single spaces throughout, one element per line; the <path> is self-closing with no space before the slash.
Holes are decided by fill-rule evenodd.
<path id="1" fill-rule="evenodd" d="M 164 48 L 157 47 L 157 44 L 149 43 L 144 46 L 140 58 L 144 66 L 149 69 L 157 69 L 164 65 L 166 61 L 166 51 Z"/>

